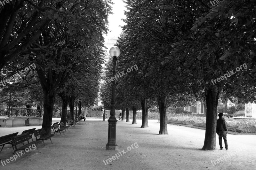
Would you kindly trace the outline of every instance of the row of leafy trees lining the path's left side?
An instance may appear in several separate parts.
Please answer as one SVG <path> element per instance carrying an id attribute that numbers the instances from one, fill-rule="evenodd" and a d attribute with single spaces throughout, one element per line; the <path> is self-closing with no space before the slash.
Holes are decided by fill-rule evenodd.
<path id="1" fill-rule="evenodd" d="M 110 4 L 111 0 L 16 0 L 0 9 L 1 78 L 36 65 L 2 90 L 35 89 L 34 96 L 43 103 L 42 127 L 47 133 L 57 95 L 64 123 L 67 104 L 73 116 L 76 99 L 81 108 L 98 97 Z"/>

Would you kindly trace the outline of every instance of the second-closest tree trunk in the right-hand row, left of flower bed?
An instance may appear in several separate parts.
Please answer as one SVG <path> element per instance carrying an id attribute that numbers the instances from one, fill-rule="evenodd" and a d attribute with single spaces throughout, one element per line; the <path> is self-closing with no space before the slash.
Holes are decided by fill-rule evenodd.
<path id="1" fill-rule="evenodd" d="M 167 116 L 166 116 L 166 99 L 167 96 L 161 96 L 157 99 L 160 114 L 160 130 L 159 135 L 168 134 L 167 131 Z"/>

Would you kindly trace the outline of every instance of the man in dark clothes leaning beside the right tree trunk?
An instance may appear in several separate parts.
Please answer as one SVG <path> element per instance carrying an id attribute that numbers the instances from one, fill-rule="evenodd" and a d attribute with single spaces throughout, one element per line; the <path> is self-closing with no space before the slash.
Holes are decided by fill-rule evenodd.
<path id="1" fill-rule="evenodd" d="M 219 119 L 217 120 L 217 126 L 216 126 L 216 133 L 219 135 L 219 144 L 220 144 L 220 149 L 222 150 L 222 137 L 225 143 L 225 148 L 226 151 L 228 151 L 228 141 L 227 141 L 227 134 L 228 134 L 228 129 L 226 125 L 226 121 L 223 118 L 223 113 L 219 113 Z"/>

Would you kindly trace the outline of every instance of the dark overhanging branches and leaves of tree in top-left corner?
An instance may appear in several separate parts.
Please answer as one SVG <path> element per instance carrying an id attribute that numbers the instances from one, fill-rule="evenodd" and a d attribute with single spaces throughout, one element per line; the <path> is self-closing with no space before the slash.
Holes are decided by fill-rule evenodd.
<path id="1" fill-rule="evenodd" d="M 74 5 L 75 6 L 75 5 Z M 44 27 L 54 19 L 70 20 L 70 7 L 66 1 L 24 1 L 6 3 L 0 9 L 0 71 L 7 62 L 40 47 L 31 48 L 43 33 Z"/>

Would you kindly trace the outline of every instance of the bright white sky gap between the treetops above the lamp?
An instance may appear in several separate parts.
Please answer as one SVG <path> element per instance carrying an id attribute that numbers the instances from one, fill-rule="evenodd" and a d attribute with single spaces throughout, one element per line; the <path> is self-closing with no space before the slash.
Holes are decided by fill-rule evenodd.
<path id="1" fill-rule="evenodd" d="M 122 28 L 119 26 L 124 26 L 125 23 L 121 19 L 126 18 L 124 15 L 124 10 L 126 10 L 124 7 L 125 3 L 122 0 L 112 0 L 112 2 L 114 3 L 112 5 L 113 14 L 109 15 L 108 17 L 109 31 L 108 35 L 104 35 L 106 42 L 108 39 L 117 38 L 122 33 Z"/>

